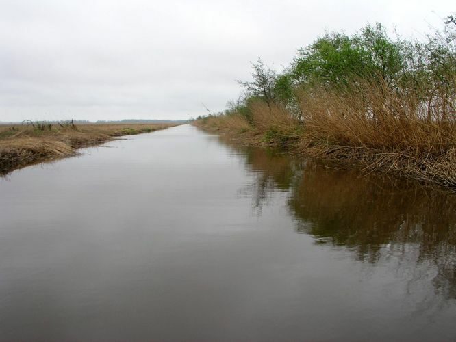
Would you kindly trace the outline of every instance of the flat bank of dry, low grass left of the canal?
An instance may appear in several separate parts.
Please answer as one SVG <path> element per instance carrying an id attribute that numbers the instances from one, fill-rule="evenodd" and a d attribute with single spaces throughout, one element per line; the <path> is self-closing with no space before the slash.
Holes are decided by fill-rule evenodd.
<path id="1" fill-rule="evenodd" d="M 28 122 L 0 126 L 0 174 L 31 163 L 77 154 L 77 148 L 94 146 L 114 137 L 148 133 L 175 124 L 78 124 Z"/>

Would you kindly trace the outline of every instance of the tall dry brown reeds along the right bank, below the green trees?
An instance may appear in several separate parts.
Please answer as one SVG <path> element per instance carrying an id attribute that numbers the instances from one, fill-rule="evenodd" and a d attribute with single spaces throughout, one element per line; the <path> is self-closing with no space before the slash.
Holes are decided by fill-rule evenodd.
<path id="1" fill-rule="evenodd" d="M 249 107 L 250 121 L 240 114 L 229 114 L 197 120 L 196 124 L 231 135 L 250 131 L 257 144 L 356 162 L 368 171 L 400 172 L 454 188 L 456 98 L 442 101 L 444 96 L 438 91 L 427 102 L 386 83 L 359 80 L 356 87 L 346 90 L 301 88 L 297 94 L 299 114 L 258 100 Z"/>

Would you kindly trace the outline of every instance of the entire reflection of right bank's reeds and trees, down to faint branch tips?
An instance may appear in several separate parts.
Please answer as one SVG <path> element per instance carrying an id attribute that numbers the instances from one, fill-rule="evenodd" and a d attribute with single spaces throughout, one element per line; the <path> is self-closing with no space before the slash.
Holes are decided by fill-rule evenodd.
<path id="1" fill-rule="evenodd" d="M 407 278 L 409 291 L 427 283 L 436 295 L 456 299 L 454 194 L 262 148 L 231 148 L 255 174 L 248 190 L 257 213 L 274 192 L 288 192 L 296 233 L 345 248 L 358 261 L 390 267 Z"/>

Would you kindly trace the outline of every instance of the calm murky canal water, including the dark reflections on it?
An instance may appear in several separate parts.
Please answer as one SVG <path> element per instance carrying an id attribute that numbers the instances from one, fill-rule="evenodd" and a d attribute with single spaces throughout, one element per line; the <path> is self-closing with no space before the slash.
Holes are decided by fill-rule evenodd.
<path id="1" fill-rule="evenodd" d="M 455 341 L 456 196 L 188 125 L 0 179 L 0 339 Z"/>

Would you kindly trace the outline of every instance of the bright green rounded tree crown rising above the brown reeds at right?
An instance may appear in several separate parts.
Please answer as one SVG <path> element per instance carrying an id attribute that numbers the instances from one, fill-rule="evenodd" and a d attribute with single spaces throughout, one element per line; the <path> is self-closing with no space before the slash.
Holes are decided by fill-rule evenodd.
<path id="1" fill-rule="evenodd" d="M 393 42 L 377 23 L 366 25 L 351 37 L 327 33 L 299 49 L 292 64 L 292 75 L 300 84 L 345 88 L 366 77 L 394 83 L 401 67 L 398 42 Z"/>

